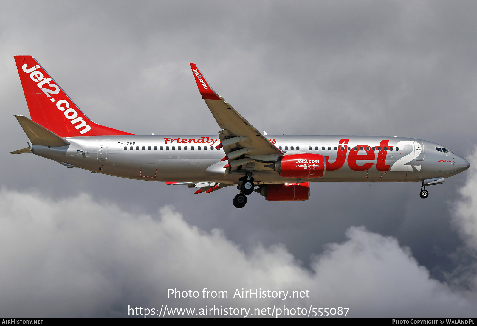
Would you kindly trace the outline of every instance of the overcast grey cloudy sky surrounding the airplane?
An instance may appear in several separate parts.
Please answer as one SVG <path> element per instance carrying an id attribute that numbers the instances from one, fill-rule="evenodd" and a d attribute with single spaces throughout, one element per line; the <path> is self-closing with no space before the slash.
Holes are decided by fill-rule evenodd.
<path id="1" fill-rule="evenodd" d="M 0 316 L 127 316 L 127 306 L 349 307 L 473 316 L 477 304 L 475 1 L 1 1 Z M 418 183 L 314 183 L 306 202 L 67 169 L 33 154 L 14 55 L 94 122 L 215 134 L 190 71 L 269 134 L 440 143 L 471 168 Z M 168 288 L 227 290 L 171 299 Z M 310 290 L 240 300 L 236 288 Z"/>

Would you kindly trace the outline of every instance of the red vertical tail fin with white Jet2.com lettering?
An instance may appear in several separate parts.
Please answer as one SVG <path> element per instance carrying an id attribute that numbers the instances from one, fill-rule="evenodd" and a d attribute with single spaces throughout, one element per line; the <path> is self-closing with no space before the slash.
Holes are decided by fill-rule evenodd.
<path id="1" fill-rule="evenodd" d="M 15 56 L 31 120 L 61 137 L 132 135 L 96 124 L 29 55 Z"/>

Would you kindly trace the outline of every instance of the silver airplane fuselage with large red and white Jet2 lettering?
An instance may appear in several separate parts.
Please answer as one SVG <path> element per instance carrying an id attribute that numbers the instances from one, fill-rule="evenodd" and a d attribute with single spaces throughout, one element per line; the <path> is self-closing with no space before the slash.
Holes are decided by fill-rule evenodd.
<path id="1" fill-rule="evenodd" d="M 436 150 L 436 147 L 443 146 L 419 139 L 285 135 L 267 135 L 267 138 L 288 154 L 316 153 L 327 157 L 326 172 L 321 178 L 302 180 L 281 177 L 272 168 L 268 169 L 269 171 L 262 169 L 253 172 L 257 184 L 320 181 L 421 182 L 436 177 L 447 178 L 469 167 L 464 158 L 451 152 L 442 153 Z M 138 180 L 239 183 L 239 178 L 244 175 L 244 170 L 241 169 L 225 173 L 223 166 L 227 161 L 221 161 L 225 153 L 222 148 L 216 149 L 220 140 L 214 135 L 86 136 L 66 139 L 71 143 L 68 146 L 31 145 L 31 149 L 36 155 L 69 167 Z M 382 148 L 379 154 L 378 146 L 383 144 L 383 141 L 388 141 L 387 151 L 383 153 Z M 422 152 L 417 153 L 416 149 L 420 144 L 423 145 Z M 344 151 L 340 152 L 342 146 L 357 147 L 358 151 L 363 146 L 364 150 L 360 153 L 367 153 L 368 158 L 373 156 L 371 151 L 375 147 L 374 159 L 356 161 L 354 156 L 353 161 L 349 161 L 350 151 L 344 148 Z M 366 147 L 370 147 L 367 152 Z M 336 168 L 336 164 L 332 168 L 338 155 L 344 158 L 344 163 L 339 168 Z M 366 169 L 355 171 L 362 170 L 362 166 L 366 166 Z M 383 169 L 383 166 L 389 167 Z"/>

